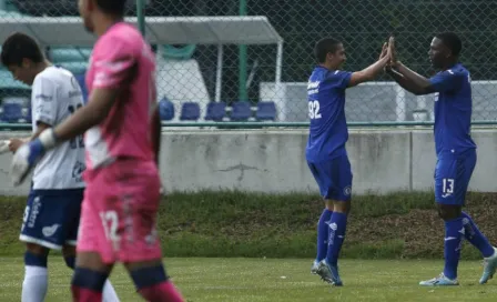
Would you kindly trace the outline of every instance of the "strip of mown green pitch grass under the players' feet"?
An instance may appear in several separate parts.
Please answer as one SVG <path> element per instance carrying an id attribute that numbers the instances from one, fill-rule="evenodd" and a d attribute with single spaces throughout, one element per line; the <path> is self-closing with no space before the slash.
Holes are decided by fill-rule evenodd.
<path id="1" fill-rule="evenodd" d="M 460 286 L 420 288 L 437 275 L 442 261 L 342 262 L 343 288 L 331 288 L 310 274 L 311 260 L 295 259 L 166 259 L 168 272 L 189 302 L 304 302 L 304 301 L 495 301 L 497 280 L 477 283 L 479 262 L 462 262 Z M 21 258 L 0 258 L 0 301 L 20 301 Z M 69 271 L 51 258 L 47 301 L 71 301 Z M 121 301 L 141 301 L 123 271 L 116 266 L 112 283 Z"/>

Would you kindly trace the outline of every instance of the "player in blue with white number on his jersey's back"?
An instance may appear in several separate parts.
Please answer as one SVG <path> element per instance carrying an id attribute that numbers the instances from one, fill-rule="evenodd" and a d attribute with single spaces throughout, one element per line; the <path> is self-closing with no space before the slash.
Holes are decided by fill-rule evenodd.
<path id="1" fill-rule="evenodd" d="M 348 72 L 341 70 L 345 62 L 341 41 L 324 38 L 314 49 L 318 64 L 307 84 L 311 128 L 305 155 L 325 209 L 317 224 L 317 256 L 311 272 L 337 286 L 343 284 L 337 260 L 345 239 L 352 193 L 351 163 L 345 150 L 348 140 L 345 90 L 383 72 L 389 61 L 388 51 L 385 43 L 377 62 L 362 71 Z"/>

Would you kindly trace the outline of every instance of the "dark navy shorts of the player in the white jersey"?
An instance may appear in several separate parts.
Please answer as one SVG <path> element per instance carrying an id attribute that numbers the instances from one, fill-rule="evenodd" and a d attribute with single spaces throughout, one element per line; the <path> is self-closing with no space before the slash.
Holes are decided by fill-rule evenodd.
<path id="1" fill-rule="evenodd" d="M 19 239 L 54 250 L 75 246 L 83 193 L 84 189 L 31 190 Z"/>

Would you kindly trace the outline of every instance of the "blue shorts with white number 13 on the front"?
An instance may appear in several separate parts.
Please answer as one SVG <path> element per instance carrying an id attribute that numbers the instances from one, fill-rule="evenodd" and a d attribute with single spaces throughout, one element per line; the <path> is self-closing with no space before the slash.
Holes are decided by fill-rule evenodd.
<path id="1" fill-rule="evenodd" d="M 464 205 L 469 180 L 476 165 L 476 150 L 438 158 L 435 168 L 435 200 L 443 204 Z"/>

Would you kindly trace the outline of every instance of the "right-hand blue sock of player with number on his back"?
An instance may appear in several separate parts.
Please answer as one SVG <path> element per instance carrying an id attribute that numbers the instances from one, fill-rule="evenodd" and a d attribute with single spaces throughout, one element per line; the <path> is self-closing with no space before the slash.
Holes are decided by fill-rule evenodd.
<path id="1" fill-rule="evenodd" d="M 347 229 L 347 214 L 333 212 L 329 222 L 328 251 L 326 261 L 336 265 L 338 262 L 339 251 L 345 240 L 345 230 Z"/>

